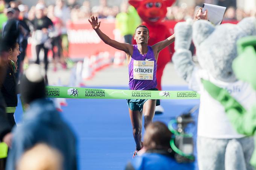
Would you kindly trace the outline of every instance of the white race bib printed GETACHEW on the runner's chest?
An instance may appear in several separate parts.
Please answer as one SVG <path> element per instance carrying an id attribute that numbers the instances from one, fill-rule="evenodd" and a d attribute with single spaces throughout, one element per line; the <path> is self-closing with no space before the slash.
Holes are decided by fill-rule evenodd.
<path id="1" fill-rule="evenodd" d="M 153 80 L 154 61 L 133 61 L 133 78 L 136 80 Z"/>

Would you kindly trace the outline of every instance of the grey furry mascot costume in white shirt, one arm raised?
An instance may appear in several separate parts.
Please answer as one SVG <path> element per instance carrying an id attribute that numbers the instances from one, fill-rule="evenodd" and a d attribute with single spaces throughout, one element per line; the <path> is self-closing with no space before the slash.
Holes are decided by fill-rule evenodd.
<path id="1" fill-rule="evenodd" d="M 251 170 L 254 148 L 252 137 L 238 134 L 229 122 L 224 107 L 204 89 L 201 79 L 226 89 L 244 108 L 250 108 L 256 96 L 248 83 L 237 80 L 232 62 L 238 56 L 239 38 L 256 35 L 255 18 L 238 24 L 213 26 L 209 21 L 181 22 L 175 26 L 175 69 L 189 88 L 200 93 L 198 116 L 198 166 L 200 170 Z M 199 66 L 189 51 L 193 39 Z"/>

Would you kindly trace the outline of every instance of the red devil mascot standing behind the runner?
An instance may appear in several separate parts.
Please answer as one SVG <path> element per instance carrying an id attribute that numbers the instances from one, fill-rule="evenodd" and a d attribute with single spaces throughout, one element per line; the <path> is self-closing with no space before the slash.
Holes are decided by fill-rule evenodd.
<path id="1" fill-rule="evenodd" d="M 163 24 L 163 18 L 167 13 L 167 7 L 171 6 L 175 0 L 129 0 L 129 3 L 137 9 L 140 18 L 143 20 L 142 25 L 148 27 L 149 40 L 148 45 L 154 45 L 159 41 L 163 41 L 171 33 Z M 136 42 L 135 42 L 136 43 Z M 134 43 L 134 44 L 135 44 Z M 174 43 L 170 47 L 163 49 L 157 60 L 157 89 L 162 90 L 161 79 L 166 64 L 171 60 L 174 52 Z M 163 112 L 162 108 L 156 108 L 156 114 Z"/>

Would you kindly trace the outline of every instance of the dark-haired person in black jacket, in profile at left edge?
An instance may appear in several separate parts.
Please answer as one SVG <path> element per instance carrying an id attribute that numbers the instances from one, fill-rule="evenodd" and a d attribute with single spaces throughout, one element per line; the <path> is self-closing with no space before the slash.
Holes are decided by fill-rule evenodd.
<path id="1" fill-rule="evenodd" d="M 7 118 L 11 126 L 15 125 L 14 112 L 17 107 L 17 83 L 15 72 L 17 72 L 17 57 L 20 55 L 18 43 L 14 43 L 9 49 L 8 62 L 6 64 L 6 77 L 1 87 L 1 92 L 6 102 Z"/>

